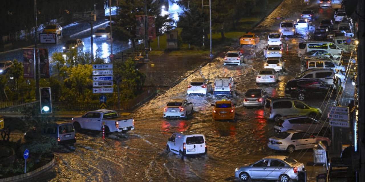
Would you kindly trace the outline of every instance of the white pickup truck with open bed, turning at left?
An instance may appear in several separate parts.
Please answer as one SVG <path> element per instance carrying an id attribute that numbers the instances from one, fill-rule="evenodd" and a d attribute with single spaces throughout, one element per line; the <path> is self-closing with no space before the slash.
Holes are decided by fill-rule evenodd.
<path id="1" fill-rule="evenodd" d="M 127 132 L 134 130 L 134 119 L 118 116 L 117 112 L 112 110 L 95 110 L 89 111 L 85 115 L 72 118 L 75 130 L 81 132 L 83 130 L 101 131 L 105 125 L 105 134 L 111 132 Z"/>

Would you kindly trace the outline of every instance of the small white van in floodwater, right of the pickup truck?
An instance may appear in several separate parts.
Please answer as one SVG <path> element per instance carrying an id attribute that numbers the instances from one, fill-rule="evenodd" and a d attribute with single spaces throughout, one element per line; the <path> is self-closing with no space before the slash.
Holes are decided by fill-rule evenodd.
<path id="1" fill-rule="evenodd" d="M 167 152 L 184 156 L 197 156 L 207 154 L 207 141 L 203 134 L 191 134 L 191 132 L 175 132 L 166 144 Z"/>

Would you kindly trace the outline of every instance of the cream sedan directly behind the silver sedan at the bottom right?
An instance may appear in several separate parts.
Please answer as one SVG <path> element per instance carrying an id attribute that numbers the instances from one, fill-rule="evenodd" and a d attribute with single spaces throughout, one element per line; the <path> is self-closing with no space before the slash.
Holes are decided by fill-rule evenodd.
<path id="1" fill-rule="evenodd" d="M 289 153 L 293 153 L 299 149 L 312 149 L 319 141 L 326 148 L 331 145 L 331 141 L 327 137 L 316 137 L 305 131 L 288 130 L 269 138 L 268 147 L 274 150 L 287 150 Z"/>

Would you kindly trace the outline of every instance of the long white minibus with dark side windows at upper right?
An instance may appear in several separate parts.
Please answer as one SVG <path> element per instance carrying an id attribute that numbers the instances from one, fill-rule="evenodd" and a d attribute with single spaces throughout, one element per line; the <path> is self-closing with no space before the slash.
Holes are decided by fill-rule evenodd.
<path id="1" fill-rule="evenodd" d="M 309 41 L 299 43 L 298 57 L 311 51 L 327 51 L 331 54 L 341 54 L 342 50 L 335 43 L 329 41 Z"/>

